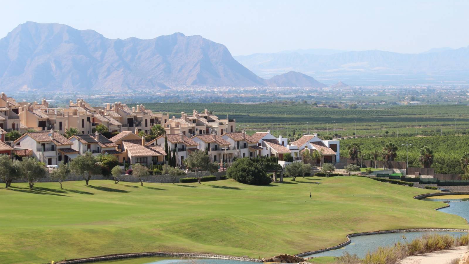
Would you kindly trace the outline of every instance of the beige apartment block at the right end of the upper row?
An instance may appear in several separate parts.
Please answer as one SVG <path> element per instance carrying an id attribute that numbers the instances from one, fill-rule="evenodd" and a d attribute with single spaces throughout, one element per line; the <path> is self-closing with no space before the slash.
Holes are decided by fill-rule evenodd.
<path id="1" fill-rule="evenodd" d="M 223 135 L 226 132 L 236 132 L 235 119 L 219 119 L 205 109 L 203 113 L 193 110 L 192 115 L 181 112 L 181 117 L 173 116 L 164 123 L 166 134 L 180 134 L 194 136 L 201 134 Z"/>

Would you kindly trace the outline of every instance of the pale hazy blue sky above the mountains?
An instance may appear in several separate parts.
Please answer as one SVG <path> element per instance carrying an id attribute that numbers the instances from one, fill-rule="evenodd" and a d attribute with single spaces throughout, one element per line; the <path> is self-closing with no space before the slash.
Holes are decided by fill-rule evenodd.
<path id="1" fill-rule="evenodd" d="M 3 1 L 0 38 L 26 21 L 92 29 L 111 39 L 182 32 L 233 55 L 299 48 L 418 53 L 469 45 L 469 0 Z"/>

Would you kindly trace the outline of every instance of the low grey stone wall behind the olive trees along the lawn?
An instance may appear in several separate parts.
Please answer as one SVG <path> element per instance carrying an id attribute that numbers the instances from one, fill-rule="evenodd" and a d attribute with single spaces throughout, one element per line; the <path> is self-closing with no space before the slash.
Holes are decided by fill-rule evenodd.
<path id="1" fill-rule="evenodd" d="M 217 180 L 219 180 L 220 176 L 224 176 L 226 174 L 227 174 L 226 171 L 217 171 L 217 172 L 214 172 L 214 173 L 207 172 L 206 176 L 214 175 L 214 176 L 217 177 Z M 187 177 L 195 177 L 195 173 L 194 172 L 189 172 L 189 173 L 187 173 L 187 175 L 184 175 L 184 176 L 176 176 L 175 182 L 179 182 L 179 179 L 187 178 Z M 105 177 L 103 175 L 93 175 L 91 177 L 91 180 L 93 180 L 93 179 L 96 180 L 96 179 L 113 179 L 113 178 L 112 178 L 112 176 Z M 173 183 L 173 179 L 174 179 L 174 177 L 172 177 L 169 174 L 166 174 L 166 175 L 150 175 L 150 176 L 142 178 L 143 181 L 157 182 L 157 183 Z M 76 181 L 76 180 L 83 180 L 83 177 L 81 175 L 76 175 L 76 174 L 70 173 L 68 179 L 66 179 L 64 181 Z M 120 180 L 121 181 L 129 181 L 129 182 L 139 182 L 139 179 L 137 177 L 135 177 L 133 175 L 125 175 L 125 174 L 121 175 Z M 2 180 L 0 180 L 0 182 L 3 183 Z M 28 181 L 26 179 L 17 179 L 17 180 L 14 180 L 13 182 L 28 182 Z M 47 174 L 47 176 L 45 178 L 39 179 L 38 182 L 57 182 L 57 180 L 52 180 L 49 177 L 49 174 Z"/>

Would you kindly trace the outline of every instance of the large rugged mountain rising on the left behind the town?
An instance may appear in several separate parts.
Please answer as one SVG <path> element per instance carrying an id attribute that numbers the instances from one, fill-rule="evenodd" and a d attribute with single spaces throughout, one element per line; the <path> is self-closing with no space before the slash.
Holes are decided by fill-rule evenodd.
<path id="1" fill-rule="evenodd" d="M 107 39 L 92 30 L 27 22 L 0 39 L 0 87 L 76 91 L 166 85 L 262 86 L 265 79 L 201 36 Z"/>

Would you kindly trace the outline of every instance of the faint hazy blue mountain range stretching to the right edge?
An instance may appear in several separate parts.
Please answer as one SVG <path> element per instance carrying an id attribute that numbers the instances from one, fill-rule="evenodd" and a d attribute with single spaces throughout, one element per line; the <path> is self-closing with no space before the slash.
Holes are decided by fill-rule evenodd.
<path id="1" fill-rule="evenodd" d="M 293 70 L 327 80 L 329 85 L 339 80 L 356 85 L 469 82 L 469 47 L 422 54 L 368 50 L 328 55 L 258 53 L 234 58 L 262 78 Z"/>

